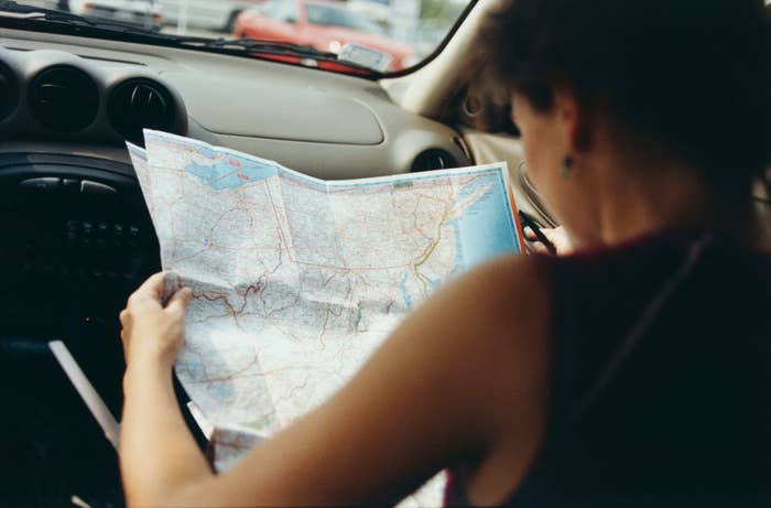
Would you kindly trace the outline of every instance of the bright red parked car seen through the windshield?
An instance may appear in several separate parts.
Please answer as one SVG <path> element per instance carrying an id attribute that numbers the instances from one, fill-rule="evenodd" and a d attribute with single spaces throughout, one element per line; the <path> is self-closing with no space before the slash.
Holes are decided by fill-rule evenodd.
<path id="1" fill-rule="evenodd" d="M 325 0 L 273 0 L 241 13 L 234 36 L 284 41 L 339 53 L 357 44 L 391 55 L 390 71 L 414 63 L 411 46 L 383 33 L 381 25 L 345 4 Z"/>

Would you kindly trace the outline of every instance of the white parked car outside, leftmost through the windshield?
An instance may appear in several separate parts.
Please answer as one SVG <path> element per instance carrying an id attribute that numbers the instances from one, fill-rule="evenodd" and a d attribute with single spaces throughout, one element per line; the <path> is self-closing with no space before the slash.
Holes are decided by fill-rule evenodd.
<path id="1" fill-rule="evenodd" d="M 161 8 L 153 0 L 69 0 L 69 11 L 86 18 L 160 29 Z"/>

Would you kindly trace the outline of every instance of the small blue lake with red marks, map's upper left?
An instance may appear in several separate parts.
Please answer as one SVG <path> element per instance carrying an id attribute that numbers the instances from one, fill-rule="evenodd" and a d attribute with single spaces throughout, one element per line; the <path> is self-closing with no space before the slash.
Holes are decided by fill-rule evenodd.
<path id="1" fill-rule="evenodd" d="M 278 167 L 273 164 L 235 156 L 226 158 L 214 164 L 193 162 L 185 170 L 200 183 L 216 191 L 237 188 L 269 179 L 278 173 Z"/>

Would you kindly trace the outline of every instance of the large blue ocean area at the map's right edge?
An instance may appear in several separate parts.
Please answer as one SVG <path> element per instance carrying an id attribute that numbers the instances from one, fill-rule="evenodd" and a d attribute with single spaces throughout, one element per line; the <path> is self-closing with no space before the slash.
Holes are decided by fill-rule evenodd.
<path id="1" fill-rule="evenodd" d="M 474 180 L 460 190 L 456 203 L 488 185 L 491 188 L 453 220 L 456 244 L 460 249 L 456 252 L 454 271 L 467 270 L 502 253 L 520 252 L 506 184 L 500 173 L 491 172 Z"/>

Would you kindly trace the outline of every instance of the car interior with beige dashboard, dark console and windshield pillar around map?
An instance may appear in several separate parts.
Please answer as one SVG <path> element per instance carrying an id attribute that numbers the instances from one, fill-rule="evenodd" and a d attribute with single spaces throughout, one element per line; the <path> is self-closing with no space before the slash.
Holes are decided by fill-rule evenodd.
<path id="1" fill-rule="evenodd" d="M 423 62 L 370 75 L 0 17 L 0 505 L 122 506 L 116 453 L 47 343 L 119 417 L 118 313 L 161 268 L 124 145 L 142 128 L 327 180 L 506 161 L 518 207 L 556 225 L 507 105 L 469 86 L 496 6 L 471 1 Z M 769 207 L 764 185 L 757 197 Z"/>

